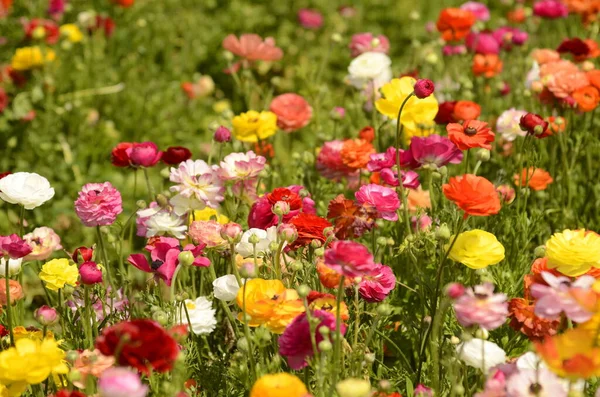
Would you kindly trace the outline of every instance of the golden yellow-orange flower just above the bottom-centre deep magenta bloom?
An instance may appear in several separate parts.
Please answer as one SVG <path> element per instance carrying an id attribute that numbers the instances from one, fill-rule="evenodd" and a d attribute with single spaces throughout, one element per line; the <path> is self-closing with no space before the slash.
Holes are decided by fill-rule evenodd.
<path id="1" fill-rule="evenodd" d="M 271 332 L 280 334 L 298 314 L 304 313 L 304 304 L 296 290 L 286 289 L 280 280 L 248 280 L 236 297 L 236 303 L 242 310 L 244 295 L 250 327 L 265 325 Z M 240 319 L 243 319 L 242 316 L 243 313 L 240 313 Z"/>

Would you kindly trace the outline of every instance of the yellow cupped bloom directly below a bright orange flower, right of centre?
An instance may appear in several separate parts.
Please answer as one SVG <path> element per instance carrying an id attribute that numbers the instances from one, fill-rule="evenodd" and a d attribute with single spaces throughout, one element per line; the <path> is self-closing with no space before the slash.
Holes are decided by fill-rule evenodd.
<path id="1" fill-rule="evenodd" d="M 445 249 L 449 247 L 447 244 Z M 492 233 L 474 229 L 458 235 L 448 256 L 471 269 L 483 269 L 504 259 L 504 246 Z"/>

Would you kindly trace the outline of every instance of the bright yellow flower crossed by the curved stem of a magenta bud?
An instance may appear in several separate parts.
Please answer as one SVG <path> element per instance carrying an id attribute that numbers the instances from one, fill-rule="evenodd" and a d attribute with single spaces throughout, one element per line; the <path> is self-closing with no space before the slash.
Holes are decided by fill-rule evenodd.
<path id="1" fill-rule="evenodd" d="M 417 80 L 412 77 L 392 79 L 381 87 L 383 98 L 375 102 L 379 113 L 386 115 L 392 120 L 398 118 L 398 112 L 404 100 L 414 91 Z M 430 124 L 438 111 L 438 102 L 434 95 L 419 99 L 412 96 L 404 105 L 400 123 L 404 128 L 411 131 L 417 130 L 420 124 Z"/>

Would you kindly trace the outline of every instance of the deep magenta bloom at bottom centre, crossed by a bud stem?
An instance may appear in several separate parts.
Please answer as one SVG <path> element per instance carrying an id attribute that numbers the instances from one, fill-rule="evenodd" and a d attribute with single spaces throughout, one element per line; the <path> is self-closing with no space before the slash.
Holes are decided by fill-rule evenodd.
<path id="1" fill-rule="evenodd" d="M 324 339 L 319 329 L 327 327 L 335 331 L 335 316 L 325 310 L 314 310 L 310 314 L 311 318 L 318 319 L 319 323 L 314 328 L 317 345 Z M 340 332 L 346 333 L 346 325 L 341 324 Z M 318 348 L 317 348 L 318 349 Z M 293 370 L 299 370 L 308 365 L 307 358 L 313 356 L 310 323 L 306 313 L 298 315 L 285 329 L 279 337 L 279 354 L 287 358 L 288 365 Z"/>

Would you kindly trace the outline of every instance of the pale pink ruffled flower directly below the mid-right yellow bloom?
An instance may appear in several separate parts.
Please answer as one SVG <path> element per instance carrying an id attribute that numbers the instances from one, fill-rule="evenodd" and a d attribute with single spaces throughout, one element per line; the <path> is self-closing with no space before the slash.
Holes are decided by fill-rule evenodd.
<path id="1" fill-rule="evenodd" d="M 478 325 L 490 331 L 504 324 L 508 316 L 506 295 L 494 294 L 492 283 L 467 288 L 453 306 L 456 318 L 463 327 Z"/>

